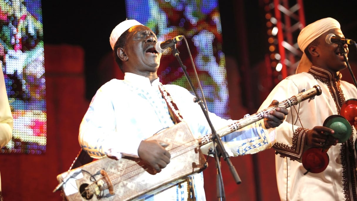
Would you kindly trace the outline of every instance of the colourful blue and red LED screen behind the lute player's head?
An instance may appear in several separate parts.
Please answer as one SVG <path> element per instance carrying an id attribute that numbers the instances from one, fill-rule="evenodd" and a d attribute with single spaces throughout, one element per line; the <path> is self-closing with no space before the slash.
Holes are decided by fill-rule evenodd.
<path id="1" fill-rule="evenodd" d="M 220 117 L 228 118 L 228 89 L 218 0 L 126 0 L 125 5 L 127 18 L 136 19 L 149 26 L 157 34 L 158 41 L 165 41 L 178 35 L 185 36 L 208 110 Z M 178 42 L 177 49 L 197 87 L 186 43 Z M 161 59 L 159 78 L 163 83 L 177 84 L 192 92 L 177 59 L 170 51 Z"/>

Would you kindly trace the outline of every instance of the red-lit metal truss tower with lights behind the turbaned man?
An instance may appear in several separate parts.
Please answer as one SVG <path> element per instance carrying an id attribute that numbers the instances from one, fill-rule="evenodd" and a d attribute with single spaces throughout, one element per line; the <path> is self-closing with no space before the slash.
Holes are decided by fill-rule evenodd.
<path id="1" fill-rule="evenodd" d="M 264 0 L 264 4 L 270 51 L 266 65 L 272 68 L 272 81 L 276 85 L 295 74 L 302 55 L 297 36 L 305 27 L 305 14 L 302 0 Z"/>

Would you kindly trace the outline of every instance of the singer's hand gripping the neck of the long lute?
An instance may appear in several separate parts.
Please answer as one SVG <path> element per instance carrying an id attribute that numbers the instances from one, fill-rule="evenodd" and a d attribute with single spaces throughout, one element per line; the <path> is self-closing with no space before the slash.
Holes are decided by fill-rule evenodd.
<path id="1" fill-rule="evenodd" d="M 276 106 L 279 101 L 273 100 L 269 107 Z M 266 128 L 275 128 L 283 123 L 285 115 L 287 115 L 288 109 L 283 107 L 277 107 L 275 110 L 269 112 L 269 114 L 264 114 L 264 125 Z"/>

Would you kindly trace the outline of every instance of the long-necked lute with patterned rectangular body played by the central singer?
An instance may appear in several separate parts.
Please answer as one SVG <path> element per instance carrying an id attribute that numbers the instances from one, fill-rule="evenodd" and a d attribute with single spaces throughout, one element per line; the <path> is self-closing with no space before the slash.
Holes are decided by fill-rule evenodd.
<path id="1" fill-rule="evenodd" d="M 306 99 L 320 95 L 320 86 L 303 91 L 276 106 L 235 121 L 217 131 L 220 137 L 237 131 L 277 107 L 288 108 Z M 200 147 L 211 142 L 212 134 L 195 138 L 186 122 L 164 129 L 147 140 L 160 139 L 169 144 L 166 149 L 171 154 L 170 163 L 156 173 L 140 158 L 108 157 L 87 163 L 57 176 L 65 200 L 140 200 L 145 196 L 166 190 L 178 182 L 185 182 L 187 176 L 201 172 L 207 167 Z"/>

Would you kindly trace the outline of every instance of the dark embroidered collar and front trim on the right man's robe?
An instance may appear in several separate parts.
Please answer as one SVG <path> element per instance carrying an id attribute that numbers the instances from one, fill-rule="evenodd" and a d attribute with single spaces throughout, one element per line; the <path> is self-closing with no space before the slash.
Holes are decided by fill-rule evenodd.
<path id="1" fill-rule="evenodd" d="M 331 72 L 315 66 L 309 69 L 310 74 L 315 79 L 321 80 L 330 90 L 330 94 L 335 101 L 338 114 L 340 114 L 341 106 L 345 103 L 345 95 L 343 95 L 340 80 L 342 74 L 334 76 Z M 343 190 L 345 191 L 345 199 L 347 201 L 357 201 L 357 171 L 355 163 L 355 150 L 353 146 L 353 134 L 350 139 L 341 144 L 341 163 L 343 167 Z"/>

